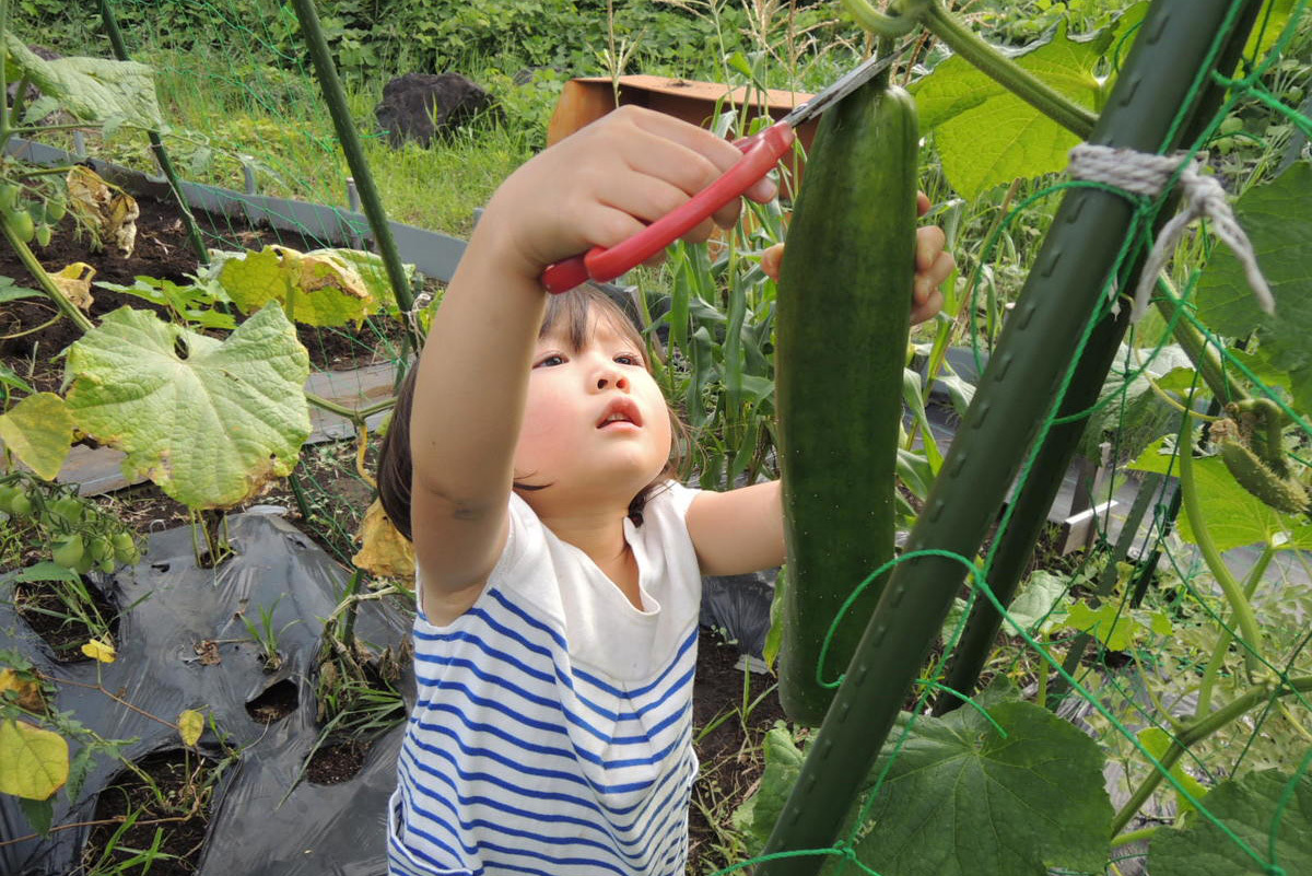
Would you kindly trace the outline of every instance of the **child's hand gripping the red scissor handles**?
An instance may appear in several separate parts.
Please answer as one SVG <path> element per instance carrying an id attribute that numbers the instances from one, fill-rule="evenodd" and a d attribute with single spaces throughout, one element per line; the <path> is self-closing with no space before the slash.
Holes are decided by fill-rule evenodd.
<path id="1" fill-rule="evenodd" d="M 550 264 L 592 247 L 614 247 L 684 205 L 719 178 L 743 153 L 695 125 L 623 106 L 525 163 L 488 202 L 478 231 L 495 241 L 506 268 L 537 278 Z M 747 197 L 769 201 L 768 178 Z M 735 199 L 714 215 L 733 224 Z M 685 235 L 702 241 L 711 220 Z M 471 241 L 472 243 L 472 241 Z"/>

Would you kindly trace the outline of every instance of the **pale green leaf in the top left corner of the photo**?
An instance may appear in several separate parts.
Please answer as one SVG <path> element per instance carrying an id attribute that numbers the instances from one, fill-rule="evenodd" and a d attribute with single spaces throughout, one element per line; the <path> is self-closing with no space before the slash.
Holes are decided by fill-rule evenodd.
<path id="1" fill-rule="evenodd" d="M 9 49 L 7 76 L 28 76 L 43 94 L 83 122 L 118 122 L 159 130 L 164 127 L 155 96 L 155 71 L 130 60 L 59 58 L 45 60 L 14 37 L 5 34 Z"/>

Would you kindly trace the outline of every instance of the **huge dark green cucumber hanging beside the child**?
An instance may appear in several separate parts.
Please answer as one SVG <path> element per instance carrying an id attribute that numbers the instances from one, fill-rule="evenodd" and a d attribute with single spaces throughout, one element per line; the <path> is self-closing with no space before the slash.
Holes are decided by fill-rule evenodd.
<path id="1" fill-rule="evenodd" d="M 787 521 L 779 698 L 816 725 L 816 682 L 844 601 L 893 555 L 893 477 L 916 273 L 916 106 L 872 81 L 830 109 L 807 156 L 779 277 L 775 392 Z M 834 632 L 823 677 L 842 673 L 882 581 Z"/>

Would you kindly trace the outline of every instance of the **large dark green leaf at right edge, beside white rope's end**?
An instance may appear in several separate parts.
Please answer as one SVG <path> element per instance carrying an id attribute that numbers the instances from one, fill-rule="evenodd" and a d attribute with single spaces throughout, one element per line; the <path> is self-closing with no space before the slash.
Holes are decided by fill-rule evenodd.
<path id="1" fill-rule="evenodd" d="M 1198 283 L 1198 315 L 1220 334 L 1246 337 L 1256 330 L 1262 353 L 1290 375 L 1294 400 L 1312 410 L 1312 164 L 1290 167 L 1235 202 L 1235 212 L 1257 253 L 1275 296 L 1275 313 L 1263 313 L 1244 278 L 1244 268 L 1218 247 Z"/>

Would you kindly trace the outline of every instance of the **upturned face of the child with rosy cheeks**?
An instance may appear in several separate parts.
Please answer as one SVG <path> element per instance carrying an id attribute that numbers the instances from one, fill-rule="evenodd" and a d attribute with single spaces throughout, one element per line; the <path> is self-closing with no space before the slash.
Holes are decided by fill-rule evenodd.
<path id="1" fill-rule="evenodd" d="M 583 349 L 571 349 L 564 327 L 538 340 L 514 476 L 551 488 L 525 490 L 530 505 L 627 506 L 669 451 L 669 408 L 630 336 L 592 315 Z"/>

